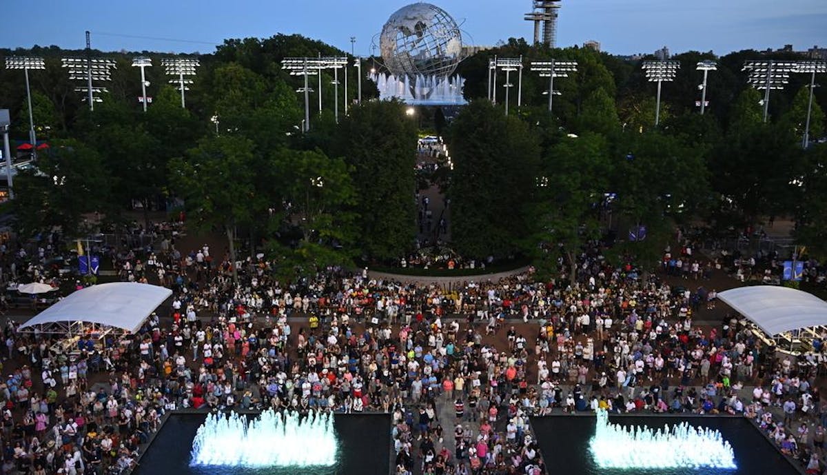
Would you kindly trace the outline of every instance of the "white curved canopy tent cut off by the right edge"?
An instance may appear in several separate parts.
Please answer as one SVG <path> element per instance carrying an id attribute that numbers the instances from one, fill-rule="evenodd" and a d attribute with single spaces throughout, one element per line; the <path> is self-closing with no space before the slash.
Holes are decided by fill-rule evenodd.
<path id="1" fill-rule="evenodd" d="M 802 290 L 754 285 L 724 290 L 718 298 L 768 335 L 827 325 L 827 302 Z"/>

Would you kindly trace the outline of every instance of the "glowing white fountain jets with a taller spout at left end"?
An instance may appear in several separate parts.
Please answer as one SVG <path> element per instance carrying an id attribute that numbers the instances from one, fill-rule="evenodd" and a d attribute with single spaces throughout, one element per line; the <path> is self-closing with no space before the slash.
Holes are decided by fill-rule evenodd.
<path id="1" fill-rule="evenodd" d="M 672 429 L 624 428 L 609 424 L 602 409 L 589 450 L 600 468 L 737 468 L 732 447 L 717 430 L 686 422 Z"/>

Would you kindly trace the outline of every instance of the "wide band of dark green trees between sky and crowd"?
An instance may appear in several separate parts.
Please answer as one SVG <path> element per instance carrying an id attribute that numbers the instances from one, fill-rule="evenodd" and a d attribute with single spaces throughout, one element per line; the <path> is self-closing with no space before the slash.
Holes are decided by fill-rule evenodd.
<path id="1" fill-rule="evenodd" d="M 802 147 L 810 77 L 791 74 L 786 89 L 773 90 L 765 122 L 763 92 L 749 88 L 742 71 L 744 60 L 798 59 L 788 52 L 674 56 L 681 68 L 662 84 L 655 127 L 656 84 L 643 74 L 640 58 L 511 39 L 461 63 L 470 105 L 456 118 L 432 108 L 419 108 L 411 118 L 402 103 L 373 100 L 377 91 L 365 78 L 364 101 L 356 105 L 355 68 L 340 71 L 340 82 L 347 74 L 351 88 L 347 95 L 339 90 L 337 118 L 332 71 L 322 71 L 311 78 L 307 133 L 304 95 L 296 92 L 304 81 L 281 60 L 347 55 L 320 41 L 298 35 L 227 40 L 213 54 L 198 56 L 198 74 L 184 91 L 186 108 L 160 67 L 165 55 L 143 52 L 154 61 L 146 70 L 153 98 L 146 113 L 137 100 L 140 75 L 131 68 L 137 53 L 106 54 L 118 67 L 93 112 L 60 64 L 61 57 L 80 53 L 0 50 L 0 60 L 45 57 L 45 70 L 30 72 L 31 100 L 37 137 L 50 149 L 36 168 L 17 176 L 10 205 L 25 236 L 53 226 L 83 233 L 84 214 L 118 219 L 138 205 L 166 209 L 183 199 L 190 222 L 226 234 L 233 255 L 246 237 L 251 254 L 266 242 L 285 275 L 350 265 L 354 257 L 394 261 L 416 245 L 420 125 L 447 139 L 454 166 L 442 178 L 452 207 L 450 244 L 468 257 L 521 253 L 549 268 L 566 266 L 579 247 L 609 230 L 624 252 L 652 256 L 674 223 L 700 218 L 717 228 L 739 228 L 782 215 L 796 218 L 803 244 L 827 255 L 825 146 Z M 502 72 L 497 103 L 485 100 L 488 60 L 495 55 L 523 57 L 519 106 Z M 578 66 L 549 91 L 548 78 L 528 63 L 552 59 Z M 703 116 L 696 105 L 700 60 L 718 63 L 707 78 L 710 104 Z M 517 80 L 510 76 L 512 84 Z M 553 113 L 547 111 L 549 93 Z M 508 117 L 504 94 L 510 94 Z M 815 141 L 827 132 L 827 88 L 813 95 Z M 12 141 L 26 142 L 29 106 L 21 71 L 0 70 L 0 107 L 12 111 Z M 629 230 L 641 226 L 647 237 L 625 242 Z"/>

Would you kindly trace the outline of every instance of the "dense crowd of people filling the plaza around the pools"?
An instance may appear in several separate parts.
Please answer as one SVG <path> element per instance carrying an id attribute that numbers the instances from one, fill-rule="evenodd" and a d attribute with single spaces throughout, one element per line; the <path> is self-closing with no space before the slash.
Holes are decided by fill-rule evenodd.
<path id="1" fill-rule="evenodd" d="M 686 247 L 674 254 L 693 261 Z M 121 473 L 170 410 L 265 407 L 389 413 L 399 475 L 547 473 L 528 417 L 598 407 L 743 414 L 824 466 L 815 359 L 777 359 L 738 319 L 696 324 L 714 290 L 612 266 L 596 245 L 573 281 L 564 265 L 449 288 L 340 268 L 280 282 L 265 257 L 182 253 L 171 236 L 112 261 L 122 280 L 170 286 L 169 317 L 74 348 L 10 319 L 3 473 Z M 802 415 L 822 417 L 802 432 Z"/>

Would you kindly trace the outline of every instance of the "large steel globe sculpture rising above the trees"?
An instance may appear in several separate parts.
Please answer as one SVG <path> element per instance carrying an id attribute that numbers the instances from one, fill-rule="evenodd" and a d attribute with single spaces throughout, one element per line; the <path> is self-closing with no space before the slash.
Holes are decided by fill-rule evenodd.
<path id="1" fill-rule="evenodd" d="M 379 41 L 385 66 L 407 83 L 414 98 L 447 84 L 462 58 L 462 34 L 442 8 L 412 3 L 390 16 Z"/>

